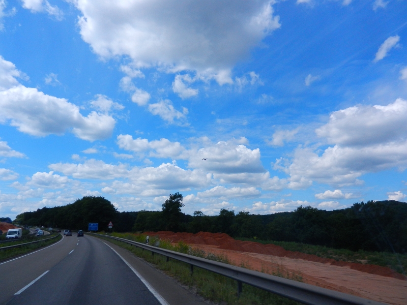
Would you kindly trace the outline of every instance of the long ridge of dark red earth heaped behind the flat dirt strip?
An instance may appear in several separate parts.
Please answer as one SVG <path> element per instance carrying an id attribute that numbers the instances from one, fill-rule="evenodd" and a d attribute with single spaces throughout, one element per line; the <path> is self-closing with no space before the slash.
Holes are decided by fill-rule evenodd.
<path id="1" fill-rule="evenodd" d="M 225 233 L 210 233 L 210 232 L 198 232 L 196 234 L 187 232 L 174 233 L 171 231 L 159 231 L 159 232 L 145 232 L 144 234 L 150 236 L 159 236 L 161 239 L 168 240 L 170 242 L 180 242 L 191 245 L 208 245 L 217 246 L 218 249 L 232 250 L 240 252 L 249 252 L 257 254 L 266 254 L 280 257 L 303 259 L 311 262 L 331 264 L 334 266 L 350 267 L 358 271 L 371 273 L 373 275 L 379 275 L 383 277 L 390 277 L 399 280 L 407 280 L 406 277 L 397 273 L 389 267 L 382 267 L 377 265 L 351 263 L 344 261 L 336 261 L 330 258 L 322 258 L 313 254 L 305 254 L 301 252 L 287 251 L 280 246 L 273 245 L 269 243 L 264 245 L 263 243 L 254 241 L 241 241 L 236 240 Z"/>

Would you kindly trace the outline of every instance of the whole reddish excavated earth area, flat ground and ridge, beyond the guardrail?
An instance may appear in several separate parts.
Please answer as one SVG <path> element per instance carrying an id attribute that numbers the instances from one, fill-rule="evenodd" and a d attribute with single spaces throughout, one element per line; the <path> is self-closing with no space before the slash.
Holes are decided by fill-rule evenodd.
<path id="1" fill-rule="evenodd" d="M 301 280 L 389 304 L 407 304 L 407 278 L 377 265 L 336 261 L 316 255 L 286 251 L 282 247 L 235 240 L 224 233 L 145 232 L 150 236 L 227 257 L 231 264 L 272 275 Z"/>

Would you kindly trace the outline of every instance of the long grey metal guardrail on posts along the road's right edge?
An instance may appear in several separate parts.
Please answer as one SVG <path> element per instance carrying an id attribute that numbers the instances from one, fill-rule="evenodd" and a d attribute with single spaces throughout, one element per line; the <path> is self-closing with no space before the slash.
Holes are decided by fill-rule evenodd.
<path id="1" fill-rule="evenodd" d="M 111 238 L 129 243 L 130 245 L 149 250 L 153 255 L 154 253 L 163 255 L 167 258 L 167 262 L 169 258 L 182 261 L 191 265 L 191 273 L 193 273 L 193 267 L 196 266 L 236 280 L 238 283 L 238 294 L 242 292 L 242 283 L 245 283 L 309 305 L 385 305 L 384 303 L 368 300 L 358 296 L 279 278 L 268 275 L 267 273 L 253 271 L 205 258 L 165 250 L 125 238 L 89 232 L 85 232 L 85 234 Z"/>

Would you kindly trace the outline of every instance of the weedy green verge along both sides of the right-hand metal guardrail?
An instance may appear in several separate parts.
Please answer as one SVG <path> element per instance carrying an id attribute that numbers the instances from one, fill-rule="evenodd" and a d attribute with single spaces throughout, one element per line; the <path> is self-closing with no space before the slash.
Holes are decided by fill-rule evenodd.
<path id="1" fill-rule="evenodd" d="M 113 236 L 126 238 L 138 242 L 145 242 L 146 236 L 134 234 L 118 234 L 112 233 Z M 104 237 L 101 235 L 100 237 Z M 217 275 L 216 273 L 194 267 L 193 275 L 191 275 L 190 265 L 176 260 L 166 262 L 166 257 L 155 254 L 150 251 L 142 250 L 128 243 L 106 238 L 108 241 L 115 243 L 122 248 L 132 252 L 134 255 L 154 264 L 158 269 L 163 270 L 168 276 L 175 278 L 183 285 L 194 289 L 202 297 L 217 303 L 224 304 L 281 304 L 281 305 L 297 305 L 296 301 L 280 297 L 276 294 L 243 284 L 243 292 L 240 297 L 237 296 L 237 282 L 229 278 Z M 167 241 L 159 240 L 158 238 L 150 238 L 150 245 L 160 248 L 187 253 L 208 259 L 229 263 L 226 257 L 217 256 L 214 254 L 206 255 L 203 252 L 193 251 L 183 242 L 178 245 L 171 245 Z M 192 252 L 191 252 L 192 251 Z"/>

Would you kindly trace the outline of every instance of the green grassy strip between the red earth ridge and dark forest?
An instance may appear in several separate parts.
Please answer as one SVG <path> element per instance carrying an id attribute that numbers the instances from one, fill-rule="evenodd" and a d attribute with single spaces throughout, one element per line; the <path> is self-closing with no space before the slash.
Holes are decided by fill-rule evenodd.
<path id="1" fill-rule="evenodd" d="M 372 264 L 392 268 L 407 276 L 407 255 L 389 252 L 351 251 L 346 249 L 333 249 L 325 246 L 307 245 L 306 243 L 293 241 L 258 240 L 253 238 L 236 238 L 239 240 L 255 241 L 260 243 L 273 243 L 287 251 L 297 251 L 306 254 L 314 254 L 323 258 L 331 258 L 337 261 Z"/>

